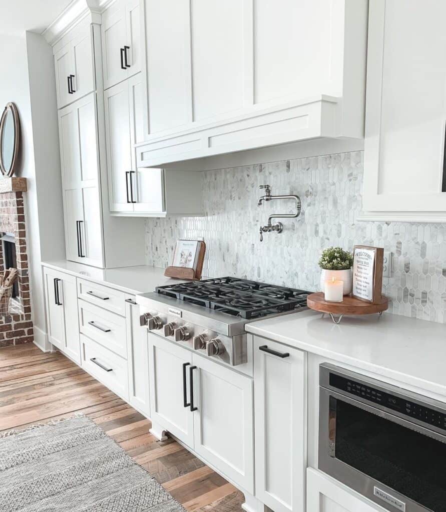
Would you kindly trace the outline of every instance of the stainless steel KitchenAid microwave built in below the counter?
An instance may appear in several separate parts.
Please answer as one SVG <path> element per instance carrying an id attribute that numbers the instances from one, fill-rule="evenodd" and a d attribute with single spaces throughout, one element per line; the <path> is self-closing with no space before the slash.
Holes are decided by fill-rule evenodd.
<path id="1" fill-rule="evenodd" d="M 321 471 L 391 512 L 446 512 L 446 403 L 327 364 L 319 397 Z"/>

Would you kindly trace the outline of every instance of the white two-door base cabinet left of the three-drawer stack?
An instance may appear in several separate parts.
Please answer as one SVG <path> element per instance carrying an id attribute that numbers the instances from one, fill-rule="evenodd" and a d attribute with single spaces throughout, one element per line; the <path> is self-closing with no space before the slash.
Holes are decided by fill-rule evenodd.
<path id="1" fill-rule="evenodd" d="M 76 278 L 44 268 L 49 342 L 80 365 Z"/>

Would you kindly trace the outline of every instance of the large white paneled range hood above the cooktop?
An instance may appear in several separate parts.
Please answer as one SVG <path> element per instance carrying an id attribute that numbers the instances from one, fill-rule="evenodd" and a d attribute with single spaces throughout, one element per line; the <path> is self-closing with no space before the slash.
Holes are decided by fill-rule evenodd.
<path id="1" fill-rule="evenodd" d="M 138 166 L 363 137 L 367 0 L 145 0 L 145 8 Z"/>

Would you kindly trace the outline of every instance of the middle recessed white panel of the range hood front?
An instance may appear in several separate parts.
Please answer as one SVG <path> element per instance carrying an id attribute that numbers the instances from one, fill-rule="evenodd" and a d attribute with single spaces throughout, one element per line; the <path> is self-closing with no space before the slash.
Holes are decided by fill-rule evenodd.
<path id="1" fill-rule="evenodd" d="M 243 107 L 244 4 L 241 0 L 191 2 L 194 120 Z"/>

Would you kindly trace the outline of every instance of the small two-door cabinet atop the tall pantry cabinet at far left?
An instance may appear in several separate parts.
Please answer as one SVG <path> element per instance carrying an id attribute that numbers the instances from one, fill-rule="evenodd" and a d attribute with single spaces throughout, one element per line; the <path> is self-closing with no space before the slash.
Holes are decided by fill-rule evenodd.
<path id="1" fill-rule="evenodd" d="M 93 31 L 87 22 L 80 23 L 53 47 L 59 109 L 95 89 Z"/>

